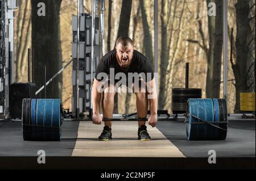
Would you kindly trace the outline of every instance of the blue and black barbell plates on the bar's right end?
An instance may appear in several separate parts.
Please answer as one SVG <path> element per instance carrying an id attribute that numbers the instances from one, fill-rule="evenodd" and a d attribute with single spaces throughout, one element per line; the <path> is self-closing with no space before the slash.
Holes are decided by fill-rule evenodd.
<path id="1" fill-rule="evenodd" d="M 185 124 L 187 140 L 225 140 L 226 99 L 188 99 Z"/>

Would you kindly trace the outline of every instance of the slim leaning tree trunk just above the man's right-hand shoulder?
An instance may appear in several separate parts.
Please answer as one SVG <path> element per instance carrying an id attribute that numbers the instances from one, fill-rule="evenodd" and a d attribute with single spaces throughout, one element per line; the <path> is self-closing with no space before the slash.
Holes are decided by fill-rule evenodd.
<path id="1" fill-rule="evenodd" d="M 150 61 L 151 66 L 153 67 L 154 62 L 153 62 L 153 50 L 152 50 L 152 36 L 150 33 L 150 26 L 147 21 L 147 13 L 146 13 L 146 2 L 143 0 L 139 0 L 139 6 L 141 6 L 141 15 L 142 15 L 142 24 L 143 24 L 143 49 L 145 56 L 148 58 Z"/>

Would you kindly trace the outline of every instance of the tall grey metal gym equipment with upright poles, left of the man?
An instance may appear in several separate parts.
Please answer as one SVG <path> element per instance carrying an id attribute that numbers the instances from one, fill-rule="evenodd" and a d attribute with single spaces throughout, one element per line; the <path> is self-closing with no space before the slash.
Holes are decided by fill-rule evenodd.
<path id="1" fill-rule="evenodd" d="M 77 1 L 82 4 L 81 0 Z M 95 3 L 93 0 L 92 5 Z M 100 18 L 94 15 L 94 7 L 92 15 L 84 14 L 80 8 L 78 15 L 72 17 L 72 114 L 76 115 L 76 120 L 91 112 L 91 84 L 100 61 Z"/>

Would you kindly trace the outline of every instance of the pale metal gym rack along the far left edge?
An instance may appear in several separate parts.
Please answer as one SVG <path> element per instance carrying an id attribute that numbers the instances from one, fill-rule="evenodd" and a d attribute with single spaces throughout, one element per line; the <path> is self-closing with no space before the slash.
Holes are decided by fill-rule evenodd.
<path id="1" fill-rule="evenodd" d="M 16 0 L 0 1 L 0 117 L 10 118 L 10 85 L 14 83 L 14 11 Z"/>

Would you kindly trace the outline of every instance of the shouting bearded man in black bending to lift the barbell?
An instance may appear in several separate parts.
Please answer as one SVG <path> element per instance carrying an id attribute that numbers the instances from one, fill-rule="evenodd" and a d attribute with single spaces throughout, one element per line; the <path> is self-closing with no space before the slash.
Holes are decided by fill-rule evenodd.
<path id="1" fill-rule="evenodd" d="M 113 75 L 114 71 L 114 75 Z M 105 80 L 103 74 L 108 75 Z M 144 78 L 130 77 L 131 74 L 143 74 Z M 146 118 L 148 102 L 150 104 L 150 117 L 148 124 L 155 127 L 157 122 L 157 105 L 158 98 L 156 94 L 156 85 L 154 72 L 150 62 L 143 54 L 134 50 L 133 41 L 129 37 L 119 37 L 115 50 L 110 51 L 101 58 L 93 82 L 93 124 L 101 124 L 100 101 L 102 87 L 104 98 L 102 99 L 102 113 L 105 118 L 113 118 L 114 95 L 117 92 L 119 77 L 125 75 L 126 86 L 130 87 L 136 95 L 137 115 L 138 118 Z M 150 75 L 150 76 L 149 76 Z M 123 78 L 125 79 L 125 78 Z M 123 81 L 122 79 L 122 81 Z M 136 83 L 139 82 L 139 83 Z M 131 85 L 130 85 L 131 83 Z M 104 121 L 105 127 L 98 137 L 99 140 L 112 139 L 112 121 Z M 147 132 L 146 121 L 138 121 L 138 139 L 150 140 L 151 137 Z"/>

